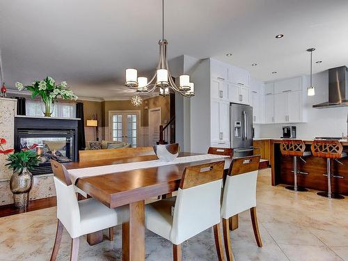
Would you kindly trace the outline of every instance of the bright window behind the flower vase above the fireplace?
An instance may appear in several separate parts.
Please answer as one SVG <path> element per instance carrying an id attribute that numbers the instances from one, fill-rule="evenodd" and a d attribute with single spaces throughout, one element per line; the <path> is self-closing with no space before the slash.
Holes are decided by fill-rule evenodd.
<path id="1" fill-rule="evenodd" d="M 43 116 L 40 100 L 26 99 L 26 116 Z M 55 102 L 52 117 L 76 118 L 76 104 L 74 102 Z"/>

